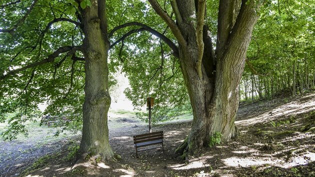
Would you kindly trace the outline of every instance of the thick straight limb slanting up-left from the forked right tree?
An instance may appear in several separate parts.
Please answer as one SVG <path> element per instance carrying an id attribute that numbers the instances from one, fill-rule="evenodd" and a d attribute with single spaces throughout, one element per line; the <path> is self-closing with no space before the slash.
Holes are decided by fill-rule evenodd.
<path id="1" fill-rule="evenodd" d="M 171 32 L 176 37 L 178 44 L 186 47 L 187 43 L 182 36 L 179 28 L 177 27 L 176 23 L 168 16 L 168 14 L 161 8 L 159 3 L 156 0 L 148 0 L 151 4 L 152 8 L 155 10 L 155 12 L 166 22 L 166 24 L 169 26 Z"/>

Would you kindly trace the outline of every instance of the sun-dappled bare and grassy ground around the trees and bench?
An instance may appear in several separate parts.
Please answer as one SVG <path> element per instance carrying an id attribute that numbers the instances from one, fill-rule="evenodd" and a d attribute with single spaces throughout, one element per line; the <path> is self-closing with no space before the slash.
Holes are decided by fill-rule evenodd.
<path id="1" fill-rule="evenodd" d="M 132 135 L 147 125 L 132 115 L 109 117 L 110 145 L 121 159 L 97 159 L 74 166 L 80 135 L 41 142 L 36 138 L 0 141 L 0 176 L 315 176 L 315 93 L 240 103 L 235 124 L 240 135 L 199 156 L 183 160 L 174 153 L 188 134 L 190 120 L 153 126 L 164 131 L 164 152 L 135 157 Z"/>

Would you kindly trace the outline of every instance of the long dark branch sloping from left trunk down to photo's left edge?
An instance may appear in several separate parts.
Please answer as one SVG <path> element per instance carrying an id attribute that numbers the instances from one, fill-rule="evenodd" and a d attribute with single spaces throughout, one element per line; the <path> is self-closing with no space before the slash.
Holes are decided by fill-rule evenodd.
<path id="1" fill-rule="evenodd" d="M 32 67 L 35 67 L 35 66 L 38 66 L 38 65 L 41 65 L 41 64 L 44 64 L 44 63 L 47 63 L 47 62 L 52 62 L 54 61 L 54 59 L 60 54 L 60 53 L 64 53 L 66 51 L 77 51 L 77 50 L 81 50 L 81 46 L 63 46 L 63 47 L 60 47 L 58 48 L 56 51 L 54 51 L 53 53 L 51 53 L 50 55 L 48 55 L 48 57 L 46 59 L 43 59 L 41 61 L 38 61 L 38 62 L 34 62 L 34 63 L 31 63 L 29 65 L 26 65 L 24 67 L 21 67 L 21 68 L 18 68 L 18 69 L 14 69 L 14 70 L 11 70 L 9 72 L 7 72 L 5 75 L 0 75 L 0 80 L 3 80 L 5 79 L 6 77 L 10 76 L 10 75 L 14 75 L 14 74 L 17 74 L 19 73 L 20 71 L 23 71 L 23 70 L 26 70 L 28 68 L 32 68 Z"/>

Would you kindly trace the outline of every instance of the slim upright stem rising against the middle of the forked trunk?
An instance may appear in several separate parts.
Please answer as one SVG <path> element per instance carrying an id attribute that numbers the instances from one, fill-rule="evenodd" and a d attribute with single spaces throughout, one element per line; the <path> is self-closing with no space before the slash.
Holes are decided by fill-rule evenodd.
<path id="1" fill-rule="evenodd" d="M 204 43 L 202 40 L 203 24 L 204 24 L 204 12 L 205 12 L 205 0 L 198 0 L 198 11 L 197 11 L 197 26 L 196 26 L 196 40 L 198 46 L 198 55 L 196 62 L 196 70 L 199 78 L 202 78 L 201 61 L 203 56 Z"/>

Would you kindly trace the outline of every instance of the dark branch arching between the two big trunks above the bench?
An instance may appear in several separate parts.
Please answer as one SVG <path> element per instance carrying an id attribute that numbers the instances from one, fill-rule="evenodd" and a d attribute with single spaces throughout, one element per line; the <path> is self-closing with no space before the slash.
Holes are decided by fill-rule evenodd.
<path id="1" fill-rule="evenodd" d="M 124 28 L 124 27 L 127 27 L 127 26 L 133 26 L 133 25 L 136 25 L 136 26 L 141 26 L 143 29 L 139 28 L 139 29 L 134 29 L 134 30 L 131 30 L 129 31 L 129 35 L 134 33 L 134 32 L 138 32 L 138 31 L 143 31 L 143 30 L 147 30 L 149 31 L 150 33 L 152 33 L 153 35 L 155 35 L 156 37 L 160 38 L 161 40 L 163 40 L 172 50 L 173 50 L 173 55 L 175 57 L 178 57 L 179 54 L 178 54 L 178 47 L 169 39 L 167 38 L 165 35 L 163 35 L 162 33 L 156 31 L 155 29 L 143 24 L 143 23 L 140 23 L 140 22 L 129 22 L 129 23 L 125 23 L 125 24 L 122 24 L 122 25 L 119 25 L 119 26 L 116 26 L 115 28 L 113 28 L 110 33 L 108 34 L 108 37 L 111 37 L 113 35 L 113 33 L 118 30 L 118 29 L 121 29 L 121 28 Z M 135 31 L 135 30 L 138 30 L 138 31 Z M 126 33 L 126 34 L 128 34 Z M 128 35 L 127 35 L 128 36 Z M 125 36 L 125 37 L 127 37 Z M 124 38 L 125 38 L 124 37 Z M 121 37 L 122 38 L 122 37 Z M 119 40 L 119 39 L 118 39 Z M 120 40 L 121 41 L 121 40 Z M 117 42 L 118 43 L 118 42 Z M 115 43 L 116 44 L 116 43 Z M 110 45 L 110 47 L 112 47 L 113 44 Z"/>

